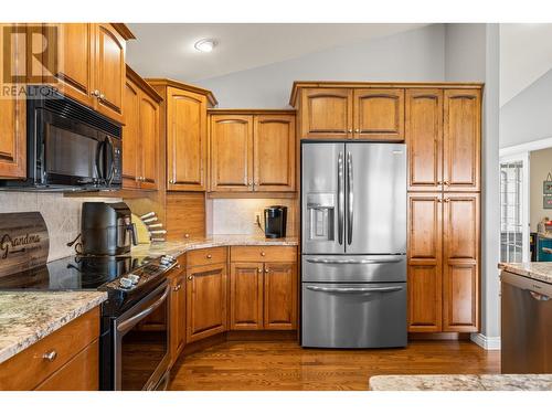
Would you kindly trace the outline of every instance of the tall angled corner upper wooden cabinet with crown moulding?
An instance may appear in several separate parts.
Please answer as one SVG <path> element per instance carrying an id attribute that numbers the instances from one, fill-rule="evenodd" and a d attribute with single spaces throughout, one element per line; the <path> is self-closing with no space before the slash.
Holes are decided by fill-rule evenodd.
<path id="1" fill-rule="evenodd" d="M 166 78 L 146 79 L 164 99 L 161 135 L 167 153 L 168 191 L 205 191 L 208 107 L 217 104 L 211 91 Z"/>

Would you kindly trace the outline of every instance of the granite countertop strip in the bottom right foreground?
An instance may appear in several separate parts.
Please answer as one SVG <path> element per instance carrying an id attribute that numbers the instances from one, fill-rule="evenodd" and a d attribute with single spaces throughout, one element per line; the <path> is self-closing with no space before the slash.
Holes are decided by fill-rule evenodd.
<path id="1" fill-rule="evenodd" d="M 375 375 L 371 391 L 552 391 L 552 374 Z"/>

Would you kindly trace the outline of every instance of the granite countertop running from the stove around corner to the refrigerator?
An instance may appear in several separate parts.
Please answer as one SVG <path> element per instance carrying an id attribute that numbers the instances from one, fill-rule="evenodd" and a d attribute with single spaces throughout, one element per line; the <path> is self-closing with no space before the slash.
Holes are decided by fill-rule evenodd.
<path id="1" fill-rule="evenodd" d="M 132 247 L 132 254 L 160 256 L 163 254 L 180 255 L 188 251 L 219 246 L 297 246 L 297 237 L 266 238 L 252 234 L 216 234 L 208 237 L 185 238 L 164 243 L 141 244 Z"/>

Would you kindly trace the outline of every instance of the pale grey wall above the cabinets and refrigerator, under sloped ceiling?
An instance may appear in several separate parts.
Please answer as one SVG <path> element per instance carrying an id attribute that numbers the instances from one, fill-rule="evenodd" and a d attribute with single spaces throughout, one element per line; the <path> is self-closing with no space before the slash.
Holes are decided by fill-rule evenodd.
<path id="1" fill-rule="evenodd" d="M 195 83 L 220 107 L 282 108 L 294 81 L 443 81 L 444 33 L 433 24 Z"/>

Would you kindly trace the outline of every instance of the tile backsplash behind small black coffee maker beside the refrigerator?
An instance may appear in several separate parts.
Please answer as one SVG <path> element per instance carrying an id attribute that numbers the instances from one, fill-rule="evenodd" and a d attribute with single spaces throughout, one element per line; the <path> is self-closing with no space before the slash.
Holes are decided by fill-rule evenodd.
<path id="1" fill-rule="evenodd" d="M 288 236 L 296 235 L 296 200 L 293 199 L 213 199 L 208 201 L 209 234 L 264 234 L 264 210 L 268 205 L 287 206 Z M 261 225 L 255 213 L 261 213 Z"/>

